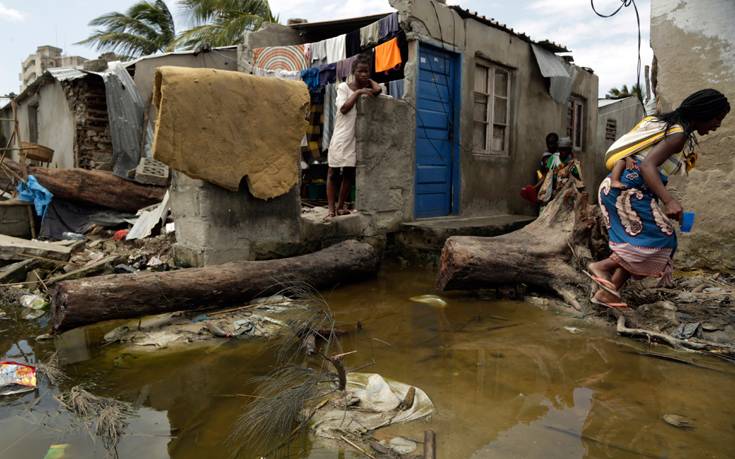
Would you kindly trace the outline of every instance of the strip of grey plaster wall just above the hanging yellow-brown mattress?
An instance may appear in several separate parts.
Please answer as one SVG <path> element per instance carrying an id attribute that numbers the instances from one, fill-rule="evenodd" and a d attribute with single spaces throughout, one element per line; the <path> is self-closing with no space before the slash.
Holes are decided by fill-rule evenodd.
<path id="1" fill-rule="evenodd" d="M 152 56 L 136 62 L 133 80 L 135 80 L 135 86 L 138 87 L 143 100 L 150 100 L 153 94 L 156 69 L 164 65 L 236 71 L 237 48 L 213 49 L 197 55 L 187 53 Z"/>

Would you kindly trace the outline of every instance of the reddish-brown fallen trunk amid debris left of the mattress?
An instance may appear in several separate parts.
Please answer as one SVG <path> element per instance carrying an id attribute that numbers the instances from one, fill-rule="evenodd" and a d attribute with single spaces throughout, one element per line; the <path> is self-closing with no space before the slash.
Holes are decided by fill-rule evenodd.
<path id="1" fill-rule="evenodd" d="M 20 174 L 20 165 L 15 161 L 5 158 L 3 164 Z M 161 202 L 167 190 L 124 180 L 107 171 L 29 167 L 28 174 L 35 176 L 56 197 L 124 212 L 137 212 Z"/>

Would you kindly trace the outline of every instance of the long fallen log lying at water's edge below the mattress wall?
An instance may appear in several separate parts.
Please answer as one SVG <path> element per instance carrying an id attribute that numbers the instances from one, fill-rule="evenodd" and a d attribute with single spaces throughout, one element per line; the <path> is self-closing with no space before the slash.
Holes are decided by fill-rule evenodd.
<path id="1" fill-rule="evenodd" d="M 331 287 L 375 274 L 379 261 L 371 245 L 346 241 L 281 260 L 60 282 L 51 300 L 54 329 L 198 307 L 227 307 L 292 284 Z"/>

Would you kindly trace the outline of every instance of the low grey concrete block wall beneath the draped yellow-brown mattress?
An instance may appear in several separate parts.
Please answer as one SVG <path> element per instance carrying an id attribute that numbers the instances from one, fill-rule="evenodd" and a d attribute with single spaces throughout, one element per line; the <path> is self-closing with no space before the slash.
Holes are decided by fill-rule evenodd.
<path id="1" fill-rule="evenodd" d="M 174 173 L 171 213 L 177 264 L 208 266 L 291 256 L 301 237 L 298 187 L 278 198 L 254 198 Z"/>

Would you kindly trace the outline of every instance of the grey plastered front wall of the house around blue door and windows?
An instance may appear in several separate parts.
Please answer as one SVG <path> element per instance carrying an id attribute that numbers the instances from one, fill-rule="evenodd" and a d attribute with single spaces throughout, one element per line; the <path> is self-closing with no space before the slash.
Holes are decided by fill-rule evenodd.
<path id="1" fill-rule="evenodd" d="M 409 39 L 433 44 L 462 54 L 462 113 L 460 141 L 462 216 L 533 214 L 535 209 L 520 197 L 520 189 L 534 179 L 544 139 L 549 132 L 567 132 L 566 104 L 554 102 L 541 75 L 530 44 L 521 38 L 462 19 L 447 6 L 431 0 L 391 0 L 399 11 Z M 410 47 L 406 68 L 407 100 L 415 104 L 416 43 Z M 497 65 L 511 72 L 509 154 L 488 155 L 473 148 L 473 88 L 475 65 Z M 577 68 L 572 94 L 584 101 L 583 165 L 592 169 L 596 158 L 597 76 Z M 594 188 L 594 174 L 585 177 Z"/>

